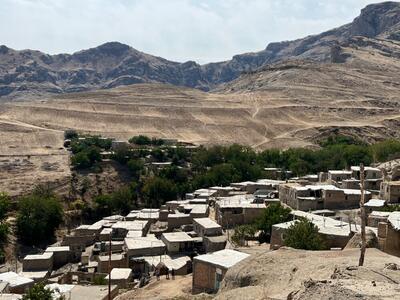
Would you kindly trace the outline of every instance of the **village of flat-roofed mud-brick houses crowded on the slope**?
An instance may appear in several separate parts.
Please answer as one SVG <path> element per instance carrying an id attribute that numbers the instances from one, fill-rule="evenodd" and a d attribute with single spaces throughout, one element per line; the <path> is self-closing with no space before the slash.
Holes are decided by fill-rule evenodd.
<path id="1" fill-rule="evenodd" d="M 290 208 L 291 220 L 273 224 L 263 251 L 285 246 L 285 232 L 301 218 L 318 227 L 331 251 L 359 247 L 361 180 L 366 231 L 376 241 L 371 247 L 400 256 L 400 212 L 390 209 L 400 203 L 398 168 L 365 167 L 361 174 L 352 166 L 302 177 L 264 171 L 266 179 L 198 189 L 160 208 L 73 228 L 43 253 L 25 256 L 22 270 L 0 274 L 0 299 L 21 299 L 38 282 L 65 299 L 114 299 L 160 277 L 179 276 L 191 276 L 192 294 L 216 293 L 226 272 L 251 255 L 232 241 L 234 228 L 251 224 L 271 205 Z M 281 180 L 282 172 L 290 178 Z"/>

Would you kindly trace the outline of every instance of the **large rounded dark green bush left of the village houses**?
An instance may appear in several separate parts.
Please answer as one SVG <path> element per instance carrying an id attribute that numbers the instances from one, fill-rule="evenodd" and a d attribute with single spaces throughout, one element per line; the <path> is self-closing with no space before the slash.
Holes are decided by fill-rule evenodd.
<path id="1" fill-rule="evenodd" d="M 20 199 L 17 235 L 24 244 L 40 245 L 54 238 L 62 220 L 63 210 L 55 196 L 34 193 Z"/>

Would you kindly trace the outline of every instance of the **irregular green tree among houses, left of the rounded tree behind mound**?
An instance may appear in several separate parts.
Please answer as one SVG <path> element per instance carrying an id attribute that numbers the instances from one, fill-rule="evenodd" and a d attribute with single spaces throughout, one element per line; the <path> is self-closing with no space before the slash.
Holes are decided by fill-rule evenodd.
<path id="1" fill-rule="evenodd" d="M 290 220 L 290 208 L 280 203 L 270 204 L 264 209 L 260 218 L 256 221 L 258 230 L 261 230 L 261 241 L 269 241 L 271 238 L 272 225 L 284 223 Z"/>

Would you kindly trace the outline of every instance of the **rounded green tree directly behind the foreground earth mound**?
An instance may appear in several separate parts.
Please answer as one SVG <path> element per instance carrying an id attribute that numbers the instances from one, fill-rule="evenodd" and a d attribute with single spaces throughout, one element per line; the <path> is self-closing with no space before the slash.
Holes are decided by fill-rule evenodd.
<path id="1" fill-rule="evenodd" d="M 284 234 L 285 246 L 304 250 L 327 249 L 318 233 L 318 227 L 308 219 L 294 221 Z"/>

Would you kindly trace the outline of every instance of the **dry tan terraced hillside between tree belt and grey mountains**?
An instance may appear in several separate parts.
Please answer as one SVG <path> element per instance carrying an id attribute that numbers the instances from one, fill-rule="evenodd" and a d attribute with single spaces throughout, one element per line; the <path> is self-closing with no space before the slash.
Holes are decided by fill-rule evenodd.
<path id="1" fill-rule="evenodd" d="M 282 56 L 207 93 L 146 83 L 0 104 L 0 190 L 68 178 L 65 129 L 260 150 L 316 147 L 333 131 L 366 141 L 400 138 L 398 8 L 368 6 L 339 40 L 328 33 L 313 43 L 306 38 L 307 51 L 323 49 L 323 60 Z M 352 28 L 368 32 L 354 36 Z"/>

